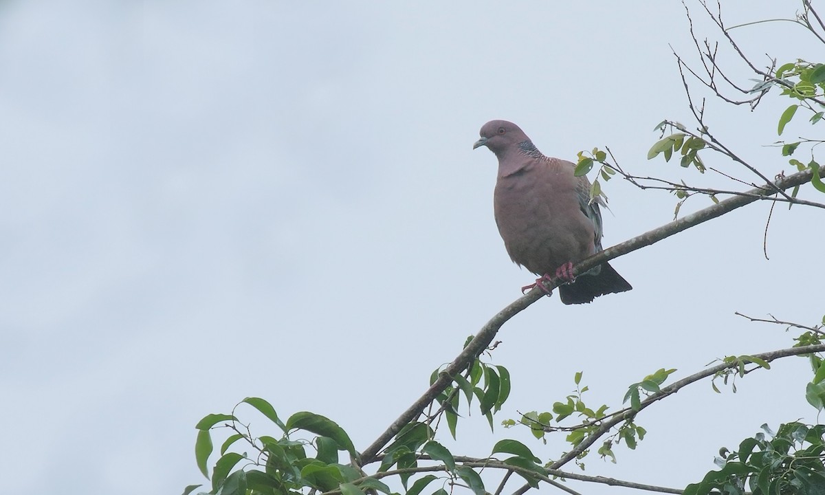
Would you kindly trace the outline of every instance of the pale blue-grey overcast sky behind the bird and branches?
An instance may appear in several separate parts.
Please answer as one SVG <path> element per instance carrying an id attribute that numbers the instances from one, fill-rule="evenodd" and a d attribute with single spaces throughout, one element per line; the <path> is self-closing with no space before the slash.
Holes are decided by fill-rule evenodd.
<path id="1" fill-rule="evenodd" d="M 732 25 L 801 5 L 724 3 Z M 821 59 L 790 23 L 737 35 L 760 64 Z M 2 491 L 208 483 L 194 426 L 247 396 L 281 417 L 331 417 L 363 450 L 535 279 L 498 237 L 496 161 L 471 149 L 484 122 L 513 120 L 552 156 L 609 146 L 639 175 L 731 186 L 646 159 L 659 121 L 693 124 L 668 44 L 695 60 L 676 0 L 0 3 Z M 765 147 L 789 104 L 714 101 L 708 120 L 772 176 L 790 172 Z M 786 134 L 811 136 L 804 120 Z M 672 195 L 621 181 L 606 192 L 606 246 L 672 219 Z M 588 405 L 615 410 L 659 368 L 681 378 L 790 347 L 794 334 L 733 312 L 822 318 L 823 213 L 777 207 L 766 261 L 768 210 L 615 260 L 628 293 L 575 307 L 554 296 L 514 318 L 493 353 L 513 380 L 497 422 L 549 410 L 579 370 Z M 638 450 L 616 447 L 618 464 L 594 453 L 587 474 L 683 488 L 763 422 L 815 422 L 809 376 L 792 358 L 739 380 L 738 394 L 695 384 L 638 417 Z M 242 415 L 255 434 L 277 433 Z M 484 456 L 505 437 L 543 460 L 565 448 L 490 434 L 478 415 L 458 444 L 440 439 Z"/>

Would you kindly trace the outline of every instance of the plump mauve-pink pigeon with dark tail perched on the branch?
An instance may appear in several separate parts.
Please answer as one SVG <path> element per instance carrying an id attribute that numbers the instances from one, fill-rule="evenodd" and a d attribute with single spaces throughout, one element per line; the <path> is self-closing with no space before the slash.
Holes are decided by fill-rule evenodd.
<path id="1" fill-rule="evenodd" d="M 479 134 L 473 148 L 487 146 L 498 158 L 493 205 L 507 254 L 540 276 L 524 289 L 544 290 L 553 274 L 567 282 L 559 286 L 564 304 L 633 289 L 608 263 L 573 277 L 575 263 L 601 251 L 599 206 L 606 204 L 591 200 L 587 177 L 576 177 L 571 162 L 545 157 L 507 120 L 491 120 Z"/>

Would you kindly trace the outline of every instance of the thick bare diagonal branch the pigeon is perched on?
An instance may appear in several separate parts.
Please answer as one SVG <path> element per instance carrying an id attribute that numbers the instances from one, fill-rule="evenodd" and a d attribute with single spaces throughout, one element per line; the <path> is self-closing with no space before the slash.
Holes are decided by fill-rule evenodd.
<path id="1" fill-rule="evenodd" d="M 604 262 L 610 261 L 615 257 L 620 257 L 628 252 L 633 252 L 653 243 L 658 243 L 658 241 L 668 238 L 675 233 L 680 233 L 682 230 L 690 229 L 695 225 L 704 223 L 710 219 L 715 219 L 716 217 L 730 211 L 741 208 L 744 205 L 760 200 L 761 197 L 771 196 L 777 189 L 784 191 L 786 189 L 790 189 L 791 187 L 809 182 L 811 177 L 813 177 L 813 172 L 811 170 L 797 172 L 787 177 L 780 177 L 776 181 L 773 181 L 770 185 L 757 187 L 756 189 L 747 191 L 747 196 L 735 196 L 733 198 L 728 198 L 727 200 L 719 201 L 719 204 L 717 205 L 711 205 L 704 210 L 699 210 L 695 213 L 688 214 L 684 218 L 678 219 L 669 224 L 664 224 L 658 229 L 653 229 L 635 238 L 629 239 L 624 243 L 616 244 L 613 247 L 608 247 L 602 252 L 598 252 L 592 257 L 578 263 L 574 268 L 573 274 L 581 275 L 582 273 L 585 273 Z M 559 280 L 554 279 L 552 282 L 545 283 L 544 286 L 548 290 L 553 289 L 559 286 Z M 417 398 L 406 411 L 401 413 L 398 419 L 389 425 L 389 427 L 362 452 L 361 465 L 369 464 L 375 460 L 375 457 L 379 454 L 380 450 L 383 449 L 390 440 L 392 440 L 393 436 L 395 436 L 398 431 L 401 431 L 401 428 L 421 415 L 424 408 L 427 408 L 427 405 L 435 400 L 438 394 L 441 394 L 441 392 L 443 392 L 444 389 L 452 383 L 452 377 L 464 371 L 467 365 L 469 365 L 469 363 L 472 362 L 476 356 L 479 356 L 479 354 L 481 354 L 484 349 L 490 345 L 490 342 L 493 342 L 493 338 L 496 337 L 498 329 L 502 328 L 504 323 L 507 323 L 507 321 L 516 314 L 521 313 L 521 311 L 530 306 L 530 304 L 535 303 L 535 301 L 539 300 L 543 295 L 544 292 L 539 288 L 530 290 L 530 292 L 526 295 L 516 299 L 506 308 L 499 311 L 495 316 L 493 316 L 493 318 L 490 318 L 488 323 L 486 323 L 475 335 L 475 337 L 473 337 L 473 340 L 467 344 L 467 347 L 464 347 L 464 350 L 455 357 L 455 360 L 452 361 L 450 365 L 447 365 L 445 370 L 441 371 L 436 381 L 431 384 L 430 388 L 427 389 L 421 397 Z"/>

